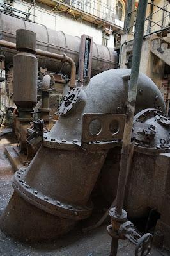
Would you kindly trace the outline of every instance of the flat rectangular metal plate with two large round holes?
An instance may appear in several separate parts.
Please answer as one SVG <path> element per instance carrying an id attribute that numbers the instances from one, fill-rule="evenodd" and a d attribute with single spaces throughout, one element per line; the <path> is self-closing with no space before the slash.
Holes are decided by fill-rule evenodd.
<path id="1" fill-rule="evenodd" d="M 82 142 L 122 139 L 125 118 L 124 114 L 85 113 L 82 116 Z"/>

